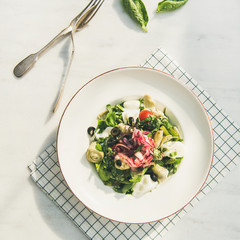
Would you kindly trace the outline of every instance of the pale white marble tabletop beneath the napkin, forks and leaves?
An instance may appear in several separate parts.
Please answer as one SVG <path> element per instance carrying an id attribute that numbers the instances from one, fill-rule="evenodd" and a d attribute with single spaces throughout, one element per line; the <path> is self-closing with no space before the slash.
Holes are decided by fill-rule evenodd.
<path id="1" fill-rule="evenodd" d="M 154 13 L 144 33 L 106 0 L 75 36 L 76 54 L 58 111 L 52 115 L 69 40 L 39 59 L 21 79 L 15 64 L 65 27 L 88 0 L 1 0 L 0 8 L 0 239 L 87 239 L 36 187 L 27 166 L 56 137 L 61 114 L 86 81 L 106 70 L 135 66 L 164 48 L 233 120 L 240 123 L 240 1 L 190 0 L 173 13 Z M 240 166 L 167 233 L 164 240 L 240 239 Z"/>

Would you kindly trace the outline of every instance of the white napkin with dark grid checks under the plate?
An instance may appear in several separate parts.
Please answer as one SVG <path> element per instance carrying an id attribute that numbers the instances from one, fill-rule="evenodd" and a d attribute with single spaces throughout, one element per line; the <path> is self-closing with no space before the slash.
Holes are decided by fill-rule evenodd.
<path id="1" fill-rule="evenodd" d="M 176 61 L 162 49 L 157 49 L 143 66 L 173 75 L 199 97 L 209 114 L 214 131 L 215 153 L 212 169 L 202 190 L 181 211 L 162 221 L 147 224 L 124 224 L 101 217 L 79 202 L 64 182 L 57 162 L 56 145 L 53 143 L 29 166 L 31 177 L 90 239 L 161 239 L 240 161 L 239 126 Z"/>

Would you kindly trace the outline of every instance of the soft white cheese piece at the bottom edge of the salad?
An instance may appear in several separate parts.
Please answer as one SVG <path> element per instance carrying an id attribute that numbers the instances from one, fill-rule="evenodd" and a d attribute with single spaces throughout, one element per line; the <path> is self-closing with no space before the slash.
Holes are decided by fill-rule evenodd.
<path id="1" fill-rule="evenodd" d="M 142 180 L 135 184 L 132 195 L 134 197 L 141 197 L 145 193 L 152 191 L 157 185 L 158 182 L 154 182 L 150 175 L 144 175 Z"/>

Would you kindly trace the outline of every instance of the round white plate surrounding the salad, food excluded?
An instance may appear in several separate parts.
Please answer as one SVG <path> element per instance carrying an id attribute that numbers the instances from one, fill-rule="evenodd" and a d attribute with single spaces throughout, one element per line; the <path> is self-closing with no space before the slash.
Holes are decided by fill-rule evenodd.
<path id="1" fill-rule="evenodd" d="M 108 103 L 149 94 L 177 117 L 184 134 L 185 156 L 175 175 L 140 198 L 105 186 L 86 159 L 87 128 Z M 74 195 L 89 209 L 111 220 L 146 223 L 164 219 L 189 204 L 200 191 L 213 160 L 213 133 L 199 99 L 161 71 L 127 67 L 103 73 L 73 96 L 59 123 L 58 161 Z"/>

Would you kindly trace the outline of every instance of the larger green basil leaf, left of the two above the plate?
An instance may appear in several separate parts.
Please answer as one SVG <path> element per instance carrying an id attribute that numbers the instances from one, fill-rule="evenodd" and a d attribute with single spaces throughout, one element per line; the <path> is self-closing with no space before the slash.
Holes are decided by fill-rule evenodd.
<path id="1" fill-rule="evenodd" d="M 142 0 L 122 0 L 122 5 L 128 15 L 147 32 L 148 14 Z"/>

